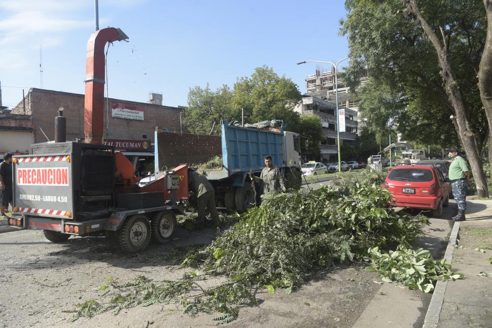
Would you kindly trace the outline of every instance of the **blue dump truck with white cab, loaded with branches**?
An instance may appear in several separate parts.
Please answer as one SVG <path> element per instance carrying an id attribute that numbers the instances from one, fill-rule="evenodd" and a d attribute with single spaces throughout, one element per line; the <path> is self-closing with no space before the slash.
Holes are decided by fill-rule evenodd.
<path id="1" fill-rule="evenodd" d="M 155 148 L 159 149 L 161 142 L 166 142 L 168 133 L 155 132 Z M 222 167 L 199 170 L 210 181 L 215 189 L 218 207 L 227 208 L 230 212 L 243 213 L 260 203 L 263 188 L 252 183 L 249 172 L 259 176 L 265 167 L 264 157 L 272 157 L 273 165 L 284 174 L 288 188 L 298 188 L 301 183 L 300 139 L 298 133 L 278 132 L 244 128 L 221 122 L 222 152 L 210 155 L 222 155 Z M 184 144 L 183 144 L 184 147 Z M 156 176 L 164 167 L 166 159 L 155 157 Z"/>

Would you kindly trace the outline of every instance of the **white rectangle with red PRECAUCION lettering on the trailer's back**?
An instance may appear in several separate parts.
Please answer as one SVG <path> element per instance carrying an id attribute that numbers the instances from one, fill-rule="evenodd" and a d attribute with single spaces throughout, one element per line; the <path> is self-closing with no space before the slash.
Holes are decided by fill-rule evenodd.
<path id="1" fill-rule="evenodd" d="M 17 168 L 17 186 L 68 186 L 68 168 Z"/>

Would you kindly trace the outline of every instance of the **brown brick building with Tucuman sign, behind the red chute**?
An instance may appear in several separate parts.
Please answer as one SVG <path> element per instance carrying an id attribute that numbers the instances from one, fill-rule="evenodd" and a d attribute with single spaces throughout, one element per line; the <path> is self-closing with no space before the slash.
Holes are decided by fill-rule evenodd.
<path id="1" fill-rule="evenodd" d="M 25 108 L 20 101 L 12 114 L 32 117 L 34 142 L 54 139 L 54 118 L 59 107 L 63 107 L 63 116 L 66 117 L 66 139 L 84 138 L 83 94 L 31 88 L 24 100 Z M 105 98 L 104 102 L 104 139 L 147 140 L 152 143 L 156 127 L 180 132 L 182 108 L 113 98 L 109 98 L 108 103 Z M 127 115 L 125 112 L 137 114 Z"/>

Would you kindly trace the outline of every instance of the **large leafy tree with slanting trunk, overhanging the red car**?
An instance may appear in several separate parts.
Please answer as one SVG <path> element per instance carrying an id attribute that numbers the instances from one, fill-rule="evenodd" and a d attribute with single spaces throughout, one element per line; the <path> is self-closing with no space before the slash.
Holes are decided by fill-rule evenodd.
<path id="1" fill-rule="evenodd" d="M 371 111 L 394 118 L 408 141 L 445 147 L 460 140 L 479 195 L 486 196 L 479 157 L 489 128 L 477 87 L 485 42 L 483 4 L 349 0 L 346 7 L 341 32 L 348 35 L 352 59 L 344 78 L 356 87 L 361 69 L 367 68 L 371 76 L 371 83 L 359 90 L 362 115 L 371 126 L 387 122 L 372 121 Z M 365 103 L 381 95 L 394 105 Z"/>

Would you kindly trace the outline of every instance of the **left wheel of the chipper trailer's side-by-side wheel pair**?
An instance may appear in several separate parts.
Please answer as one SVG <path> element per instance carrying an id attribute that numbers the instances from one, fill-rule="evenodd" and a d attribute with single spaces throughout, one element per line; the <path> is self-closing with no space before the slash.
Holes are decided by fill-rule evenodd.
<path id="1" fill-rule="evenodd" d="M 150 241 L 150 223 L 147 216 L 133 215 L 123 223 L 118 231 L 118 241 L 123 251 L 136 253 L 144 250 Z"/>

